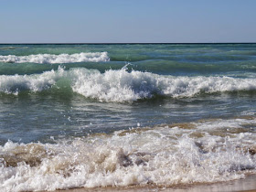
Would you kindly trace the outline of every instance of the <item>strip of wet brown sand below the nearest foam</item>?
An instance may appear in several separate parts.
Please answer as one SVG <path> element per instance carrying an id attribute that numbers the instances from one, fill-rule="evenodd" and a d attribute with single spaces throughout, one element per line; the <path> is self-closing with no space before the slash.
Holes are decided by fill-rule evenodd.
<path id="1" fill-rule="evenodd" d="M 103 191 L 122 191 L 122 192 L 139 192 L 139 191 L 164 191 L 164 192 L 256 192 L 256 176 L 247 176 L 245 179 L 239 179 L 215 184 L 199 184 L 174 187 L 95 187 L 95 188 L 74 188 L 67 190 L 58 190 L 57 192 L 103 192 Z"/>

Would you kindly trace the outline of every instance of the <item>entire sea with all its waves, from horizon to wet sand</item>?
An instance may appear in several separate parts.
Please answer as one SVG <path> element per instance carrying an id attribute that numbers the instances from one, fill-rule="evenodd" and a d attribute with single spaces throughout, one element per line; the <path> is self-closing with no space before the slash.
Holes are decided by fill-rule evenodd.
<path id="1" fill-rule="evenodd" d="M 254 174 L 255 96 L 256 44 L 0 45 L 2 188 L 161 186 Z M 33 176 L 57 183 L 31 187 Z"/>

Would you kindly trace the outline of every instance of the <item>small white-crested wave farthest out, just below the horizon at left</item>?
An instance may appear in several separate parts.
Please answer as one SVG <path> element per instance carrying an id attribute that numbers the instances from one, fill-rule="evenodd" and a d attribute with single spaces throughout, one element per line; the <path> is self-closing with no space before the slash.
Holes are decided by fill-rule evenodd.
<path id="1" fill-rule="evenodd" d="M 109 61 L 107 52 L 89 52 L 89 53 L 75 53 L 75 54 L 37 54 L 28 56 L 0 56 L 0 62 L 9 63 L 75 63 L 75 62 L 100 62 Z"/>

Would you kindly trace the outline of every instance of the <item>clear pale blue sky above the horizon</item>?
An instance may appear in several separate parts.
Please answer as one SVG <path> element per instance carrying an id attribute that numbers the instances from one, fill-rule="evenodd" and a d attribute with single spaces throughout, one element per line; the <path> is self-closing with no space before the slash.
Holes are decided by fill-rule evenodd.
<path id="1" fill-rule="evenodd" d="M 0 0 L 0 43 L 256 42 L 256 0 Z"/>

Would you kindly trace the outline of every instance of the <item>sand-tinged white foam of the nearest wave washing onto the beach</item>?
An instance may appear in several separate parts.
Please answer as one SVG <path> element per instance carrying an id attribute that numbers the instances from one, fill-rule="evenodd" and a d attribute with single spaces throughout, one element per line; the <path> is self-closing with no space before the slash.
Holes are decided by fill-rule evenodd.
<path id="1" fill-rule="evenodd" d="M 211 127 L 209 132 L 204 131 L 208 125 L 205 128 L 192 126 L 191 129 L 184 129 L 181 125 L 172 128 L 158 126 L 119 131 L 112 135 L 92 135 L 59 144 L 33 144 L 37 147 L 34 154 L 31 153 L 32 144 L 7 142 L 0 146 L 0 155 L 22 154 L 15 151 L 23 150 L 23 154 L 27 151 L 28 155 L 38 157 L 38 149 L 45 150 L 47 155 L 33 167 L 25 163 L 18 163 L 15 167 L 2 165 L 0 190 L 55 190 L 149 183 L 168 186 L 242 178 L 246 173 L 256 174 L 256 155 L 243 150 L 256 147 L 255 133 L 230 132 L 231 136 L 228 133 L 220 136 L 214 132 L 219 123 L 234 128 L 256 120 L 246 121 L 209 121 L 206 124 L 216 123 L 216 128 Z M 200 126 L 203 123 L 192 124 Z M 201 135 L 195 136 L 196 133 Z"/>

